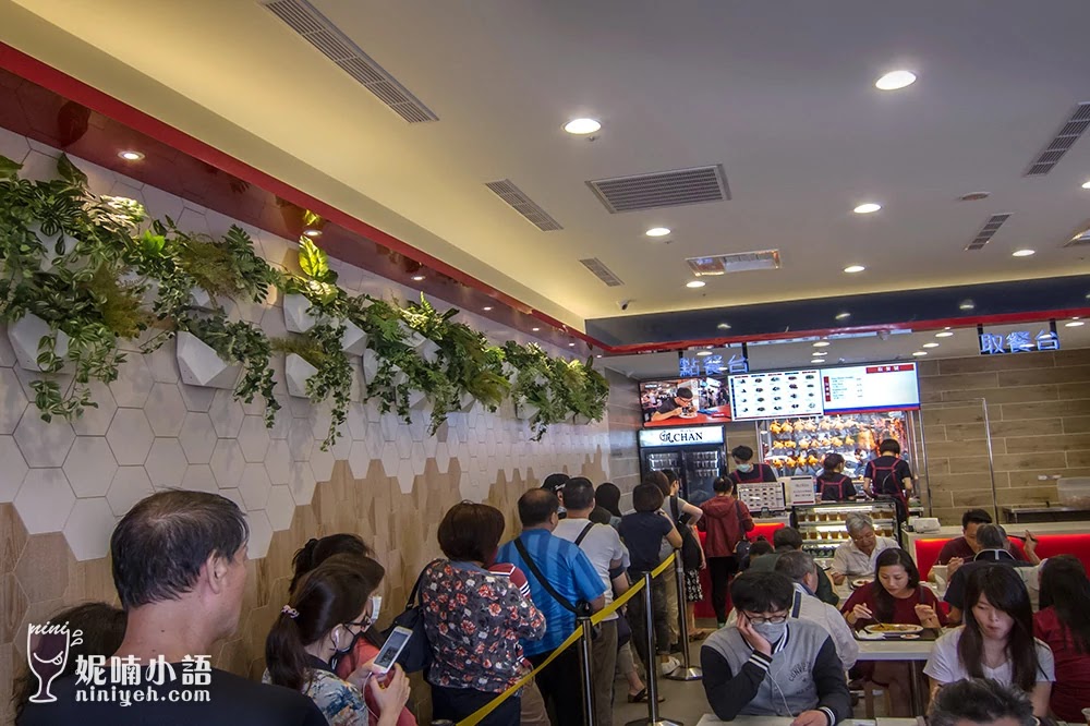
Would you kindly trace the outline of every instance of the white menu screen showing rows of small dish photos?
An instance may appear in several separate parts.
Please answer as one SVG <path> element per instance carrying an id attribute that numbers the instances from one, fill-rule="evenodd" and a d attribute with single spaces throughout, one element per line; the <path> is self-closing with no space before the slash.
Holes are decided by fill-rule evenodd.
<path id="1" fill-rule="evenodd" d="M 823 400 L 818 368 L 730 376 L 735 421 L 818 415 L 824 410 Z"/>

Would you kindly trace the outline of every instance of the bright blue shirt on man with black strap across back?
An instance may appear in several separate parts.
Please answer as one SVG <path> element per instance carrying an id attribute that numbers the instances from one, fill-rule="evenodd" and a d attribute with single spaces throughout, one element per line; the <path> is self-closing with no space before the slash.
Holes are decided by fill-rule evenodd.
<path id="1" fill-rule="evenodd" d="M 572 605 L 580 601 L 595 601 L 605 593 L 602 578 L 574 543 L 554 536 L 548 530 L 528 530 L 519 539 L 549 584 Z M 523 652 L 526 655 L 537 655 L 555 650 L 576 629 L 576 614 L 565 609 L 541 585 L 513 542 L 499 548 L 496 561 L 510 562 L 525 573 L 534 606 L 545 616 L 545 637 L 538 641 L 522 641 Z"/>

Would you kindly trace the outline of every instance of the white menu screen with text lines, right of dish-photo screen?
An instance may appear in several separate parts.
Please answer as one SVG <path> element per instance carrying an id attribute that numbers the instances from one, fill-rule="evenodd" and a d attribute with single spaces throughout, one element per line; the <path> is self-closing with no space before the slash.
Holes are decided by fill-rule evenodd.
<path id="1" fill-rule="evenodd" d="M 821 378 L 825 413 L 920 408 L 916 363 L 825 368 Z"/>

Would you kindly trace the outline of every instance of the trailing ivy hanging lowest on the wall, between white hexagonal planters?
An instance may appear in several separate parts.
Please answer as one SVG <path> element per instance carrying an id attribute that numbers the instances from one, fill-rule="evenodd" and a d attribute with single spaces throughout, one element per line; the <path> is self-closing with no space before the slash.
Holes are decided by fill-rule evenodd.
<path id="1" fill-rule="evenodd" d="M 272 349 L 281 353 L 294 353 L 317 368 L 306 379 L 306 397 L 312 403 L 332 401 L 329 431 L 322 441 L 322 450 L 328 451 L 341 436 L 341 427 L 348 420 L 348 407 L 352 396 L 352 366 L 341 351 L 343 325 L 319 323 L 301 336 L 275 338 Z"/>

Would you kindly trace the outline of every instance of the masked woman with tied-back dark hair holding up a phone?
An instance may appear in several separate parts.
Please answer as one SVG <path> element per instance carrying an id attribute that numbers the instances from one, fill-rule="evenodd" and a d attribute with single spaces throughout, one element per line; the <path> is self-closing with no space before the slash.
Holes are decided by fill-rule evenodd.
<path id="1" fill-rule="evenodd" d="M 331 726 L 368 726 L 366 689 L 379 704 L 379 726 L 396 726 L 409 700 L 409 679 L 399 666 L 386 686 L 372 677 L 371 663 L 341 679 L 330 663 L 352 650 L 371 627 L 371 594 L 385 574 L 383 566 L 359 555 L 335 555 L 296 585 L 265 640 L 264 680 L 302 691 Z"/>

